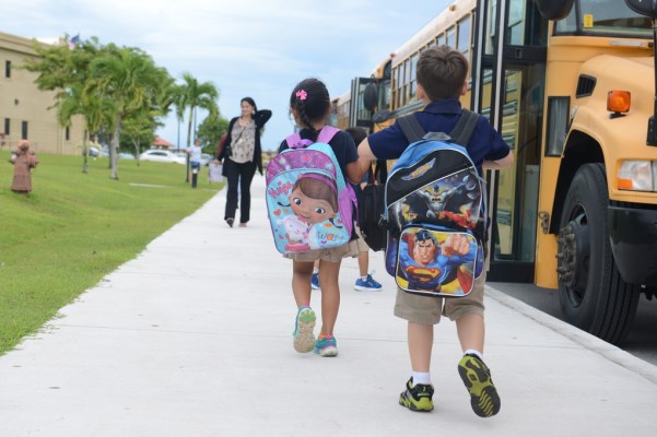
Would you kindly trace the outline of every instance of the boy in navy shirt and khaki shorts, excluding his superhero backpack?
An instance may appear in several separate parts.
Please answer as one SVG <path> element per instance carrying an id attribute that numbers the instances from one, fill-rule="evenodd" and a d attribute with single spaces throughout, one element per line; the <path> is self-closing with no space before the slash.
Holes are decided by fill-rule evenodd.
<path id="1" fill-rule="evenodd" d="M 432 47 L 418 60 L 418 97 L 426 105 L 414 117 L 426 132 L 450 132 L 461 114 L 459 97 L 468 90 L 468 60 L 448 46 Z M 359 145 L 359 165 L 363 174 L 371 160 L 396 160 L 409 145 L 396 122 L 367 137 Z M 500 169 L 513 164 L 514 157 L 502 137 L 481 117 L 466 145 L 479 174 L 482 166 Z M 458 363 L 459 375 L 470 393 L 474 413 L 490 417 L 500 411 L 500 395 L 483 363 L 484 320 L 483 288 L 485 271 L 474 281 L 468 296 L 442 299 L 419 296 L 397 290 L 395 315 L 408 320 L 408 343 L 412 376 L 399 403 L 412 411 L 433 410 L 431 354 L 433 326 L 445 315 L 456 321 L 464 357 Z"/>

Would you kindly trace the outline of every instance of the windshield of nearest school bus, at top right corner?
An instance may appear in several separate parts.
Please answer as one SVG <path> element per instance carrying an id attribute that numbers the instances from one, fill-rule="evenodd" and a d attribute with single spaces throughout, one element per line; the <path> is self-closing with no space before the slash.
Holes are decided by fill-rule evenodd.
<path id="1" fill-rule="evenodd" d="M 571 14 L 556 22 L 556 34 L 652 38 L 653 23 L 622 0 L 578 0 Z"/>

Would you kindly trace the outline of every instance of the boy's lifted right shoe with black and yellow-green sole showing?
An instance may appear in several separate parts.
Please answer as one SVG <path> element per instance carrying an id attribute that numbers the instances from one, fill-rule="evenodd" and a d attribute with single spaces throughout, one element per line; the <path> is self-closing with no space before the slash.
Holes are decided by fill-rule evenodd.
<path id="1" fill-rule="evenodd" d="M 464 355 L 458 373 L 470 393 L 472 411 L 480 417 L 491 417 L 500 412 L 500 394 L 491 379 L 491 370 L 477 355 Z"/>

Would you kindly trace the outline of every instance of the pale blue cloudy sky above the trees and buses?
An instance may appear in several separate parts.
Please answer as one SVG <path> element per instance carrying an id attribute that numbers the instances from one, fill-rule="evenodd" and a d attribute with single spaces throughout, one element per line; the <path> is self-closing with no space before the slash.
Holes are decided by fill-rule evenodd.
<path id="1" fill-rule="evenodd" d="M 368 76 L 450 0 L 2 0 L 0 32 L 39 40 L 68 34 L 138 47 L 181 83 L 212 82 L 223 117 L 245 96 L 273 115 L 262 147 L 293 131 L 290 94 L 317 78 L 331 97 Z M 199 121 L 204 114 L 197 113 Z M 185 146 L 187 120 L 164 119 L 157 134 Z M 179 140 L 178 140 L 179 139 Z"/>

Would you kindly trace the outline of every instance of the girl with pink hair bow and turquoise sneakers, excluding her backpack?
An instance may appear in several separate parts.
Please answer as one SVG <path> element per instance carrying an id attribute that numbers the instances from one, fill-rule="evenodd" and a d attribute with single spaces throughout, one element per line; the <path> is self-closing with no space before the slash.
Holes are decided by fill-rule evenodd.
<path id="1" fill-rule="evenodd" d="M 317 79 L 306 79 L 300 82 L 290 96 L 290 111 L 301 128 L 302 139 L 317 140 L 330 108 L 328 90 Z M 329 141 L 329 145 L 336 154 L 344 178 L 352 182 L 359 182 L 359 156 L 351 135 L 340 131 Z M 285 149 L 288 149 L 288 143 L 283 141 L 279 152 Z M 314 350 L 320 356 L 338 355 L 338 345 L 333 336 L 333 328 L 340 308 L 338 274 L 342 258 L 357 255 L 356 241 L 352 239 L 343 246 L 286 256 L 292 259 L 292 292 L 297 307 L 293 343 L 296 352 L 306 353 Z M 313 333 L 316 316 L 310 308 L 310 276 L 316 260 L 319 260 L 321 270 L 321 329 L 317 340 Z"/>

